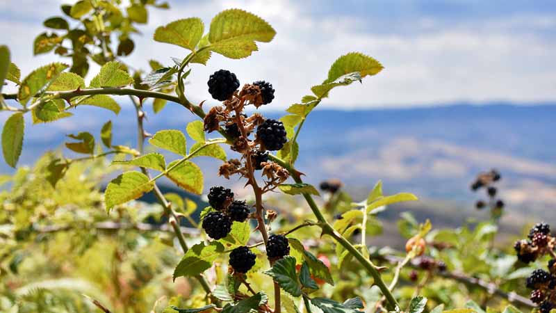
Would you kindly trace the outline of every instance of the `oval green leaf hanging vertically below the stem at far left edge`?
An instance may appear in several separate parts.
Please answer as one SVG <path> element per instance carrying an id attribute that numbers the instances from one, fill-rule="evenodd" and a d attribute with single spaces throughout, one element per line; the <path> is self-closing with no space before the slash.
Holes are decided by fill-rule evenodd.
<path id="1" fill-rule="evenodd" d="M 22 154 L 25 121 L 23 113 L 15 113 L 4 124 L 2 129 L 2 152 L 4 160 L 15 168 L 19 155 Z"/>

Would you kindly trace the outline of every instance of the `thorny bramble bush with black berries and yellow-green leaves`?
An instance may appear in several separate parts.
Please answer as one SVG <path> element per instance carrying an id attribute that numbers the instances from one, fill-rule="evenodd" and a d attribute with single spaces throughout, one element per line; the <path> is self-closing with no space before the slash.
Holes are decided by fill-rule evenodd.
<path id="1" fill-rule="evenodd" d="M 499 172 L 482 173 L 472 184 L 489 195 L 477 202 L 477 209 L 490 207 L 489 220 L 433 230 L 430 221 L 404 213 L 398 228 L 405 251 L 366 241 L 382 232 L 380 212 L 415 195 L 384 195 L 378 182 L 357 202 L 341 182 L 323 182 L 320 191 L 303 182 L 311 173 L 295 161 L 304 122 L 334 88 L 381 72 L 378 61 L 347 53 L 279 120 L 259 110 L 247 115 L 250 106 L 272 106 L 283 91 L 264 80 L 242 85 L 228 70 L 195 77 L 194 69 L 213 53 L 247 58 L 272 41 L 272 26 L 239 9 L 218 13 L 207 28 L 196 17 L 170 22 L 154 40 L 182 47 L 183 57 L 151 60 L 143 72 L 125 57 L 135 49 L 136 24 L 145 24 L 153 8 L 168 6 L 63 5 L 63 16 L 44 21 L 48 31 L 35 38 L 33 51 L 54 52 L 69 64 L 44 65 L 24 78 L 8 47 L 0 47 L 0 88 L 17 88 L 0 98 L 1 111 L 11 114 L 2 131 L 8 165 L 15 168 L 22 152 L 25 115 L 33 124 L 51 123 L 84 105 L 118 114 L 123 100 L 114 96 L 127 96 L 138 136 L 135 147 L 113 143 L 113 131 L 128 125 L 108 120 L 99 134 L 68 135 L 65 148 L 82 157 L 49 152 L 33 168 L 1 177 L 8 184 L 0 193 L 2 312 L 513 313 L 537 305 L 550 312 L 556 239 L 541 223 L 513 248 L 493 245 L 504 207 L 493 186 Z M 85 82 L 90 63 L 101 67 Z M 208 94 L 197 97 L 208 100 L 190 102 L 186 79 L 207 81 Z M 149 134 L 145 106 L 158 113 L 167 102 L 199 119 Z M 252 196 L 211 186 L 209 206 L 197 209 L 192 197 L 161 191 L 158 179 L 166 177 L 202 195 L 207 173 L 195 164 L 198 157 L 221 160 L 208 175 L 242 179 Z M 122 173 L 101 191 L 115 170 Z M 147 193 L 158 204 L 138 201 Z M 530 299 L 521 296 L 528 289 Z"/>

